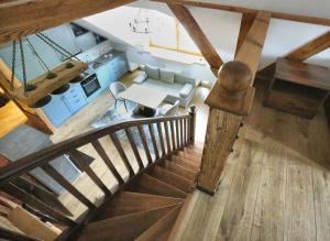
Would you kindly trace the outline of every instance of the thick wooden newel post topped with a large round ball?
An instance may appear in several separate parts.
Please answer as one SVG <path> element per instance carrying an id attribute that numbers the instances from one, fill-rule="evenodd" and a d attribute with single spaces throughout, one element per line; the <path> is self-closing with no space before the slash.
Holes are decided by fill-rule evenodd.
<path id="1" fill-rule="evenodd" d="M 252 73 L 242 62 L 228 62 L 221 66 L 206 103 L 210 107 L 197 188 L 213 195 L 229 157 L 243 116 L 249 114 L 254 88 Z"/>

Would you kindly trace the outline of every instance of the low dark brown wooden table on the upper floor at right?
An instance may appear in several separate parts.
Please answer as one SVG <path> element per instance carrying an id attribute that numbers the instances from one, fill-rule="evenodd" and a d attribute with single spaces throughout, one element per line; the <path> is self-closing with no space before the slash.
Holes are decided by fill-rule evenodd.
<path id="1" fill-rule="evenodd" d="M 264 105 L 311 119 L 329 92 L 329 68 L 278 58 Z"/>

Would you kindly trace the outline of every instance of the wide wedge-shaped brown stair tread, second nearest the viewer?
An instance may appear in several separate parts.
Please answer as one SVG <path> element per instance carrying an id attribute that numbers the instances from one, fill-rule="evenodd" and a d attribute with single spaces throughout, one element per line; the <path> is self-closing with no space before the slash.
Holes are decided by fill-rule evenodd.
<path id="1" fill-rule="evenodd" d="M 133 240 L 177 206 L 180 204 L 89 222 L 78 240 Z"/>

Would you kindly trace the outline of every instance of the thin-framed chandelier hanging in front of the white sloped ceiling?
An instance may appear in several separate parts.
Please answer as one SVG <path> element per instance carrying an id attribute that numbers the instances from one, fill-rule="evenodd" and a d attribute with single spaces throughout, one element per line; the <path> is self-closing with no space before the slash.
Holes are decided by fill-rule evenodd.
<path id="1" fill-rule="evenodd" d="M 154 18 L 152 13 L 147 9 L 139 9 L 136 15 L 129 23 L 131 31 L 142 34 L 151 34 L 160 31 L 160 19 Z"/>

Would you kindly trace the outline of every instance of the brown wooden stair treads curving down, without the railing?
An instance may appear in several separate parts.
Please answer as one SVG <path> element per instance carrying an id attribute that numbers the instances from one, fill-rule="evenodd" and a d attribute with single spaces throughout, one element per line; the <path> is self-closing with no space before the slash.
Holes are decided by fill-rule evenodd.
<path id="1" fill-rule="evenodd" d="M 167 240 L 199 172 L 201 150 L 186 147 L 118 193 L 78 240 Z"/>

